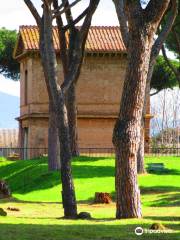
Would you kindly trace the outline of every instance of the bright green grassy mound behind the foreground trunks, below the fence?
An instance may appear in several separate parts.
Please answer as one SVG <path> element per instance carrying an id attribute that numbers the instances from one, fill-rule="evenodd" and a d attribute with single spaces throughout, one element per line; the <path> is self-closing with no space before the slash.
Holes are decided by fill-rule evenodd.
<path id="1" fill-rule="evenodd" d="M 153 172 L 139 176 L 139 185 L 145 205 L 178 204 L 180 190 L 180 158 L 146 158 L 146 164 L 161 162 L 164 172 Z M 109 192 L 114 195 L 114 159 L 79 157 L 73 160 L 73 176 L 78 201 L 90 201 L 95 192 Z M 1 161 L 0 179 L 5 179 L 13 197 L 24 201 L 61 201 L 61 180 L 59 172 L 48 172 L 47 158 L 25 161 Z M 156 198 L 154 194 L 173 192 L 171 196 Z M 145 197 L 144 197 L 145 196 Z"/>

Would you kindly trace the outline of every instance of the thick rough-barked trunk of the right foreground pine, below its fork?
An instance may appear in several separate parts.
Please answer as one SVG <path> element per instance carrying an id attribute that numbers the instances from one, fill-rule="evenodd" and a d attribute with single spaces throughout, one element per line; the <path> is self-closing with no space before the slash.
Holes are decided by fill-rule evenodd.
<path id="1" fill-rule="evenodd" d="M 137 184 L 137 151 L 151 42 L 139 29 L 132 31 L 131 38 L 134 41 L 129 45 L 120 113 L 113 132 L 116 153 L 116 218 L 142 216 Z"/>

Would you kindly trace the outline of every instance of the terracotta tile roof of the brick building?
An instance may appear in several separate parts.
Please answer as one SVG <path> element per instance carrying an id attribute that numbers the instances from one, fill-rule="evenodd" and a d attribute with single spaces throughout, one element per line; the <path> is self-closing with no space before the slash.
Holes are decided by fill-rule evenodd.
<path id="1" fill-rule="evenodd" d="M 19 30 L 19 39 L 22 39 L 24 51 L 39 50 L 39 32 L 37 26 L 21 26 Z M 57 28 L 53 29 L 53 38 L 55 49 L 59 50 Z M 22 47 L 22 44 L 19 46 Z M 18 43 L 17 43 L 18 48 Z M 20 50 L 20 49 L 19 49 Z M 22 50 L 22 49 L 21 49 Z M 125 46 L 122 40 L 119 27 L 91 27 L 89 30 L 86 52 L 125 52 Z M 17 56 L 17 49 L 15 50 Z M 19 52 L 19 51 L 18 51 Z"/>

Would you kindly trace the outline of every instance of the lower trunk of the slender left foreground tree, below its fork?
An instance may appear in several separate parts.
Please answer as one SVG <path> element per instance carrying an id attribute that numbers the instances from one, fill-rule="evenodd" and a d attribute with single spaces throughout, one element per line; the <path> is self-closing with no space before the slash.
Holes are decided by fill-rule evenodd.
<path id="1" fill-rule="evenodd" d="M 60 142 L 62 202 L 64 208 L 64 217 L 77 218 L 77 204 L 71 171 L 72 155 L 70 148 L 68 117 L 65 101 L 62 96 L 59 98 L 56 111 Z"/>

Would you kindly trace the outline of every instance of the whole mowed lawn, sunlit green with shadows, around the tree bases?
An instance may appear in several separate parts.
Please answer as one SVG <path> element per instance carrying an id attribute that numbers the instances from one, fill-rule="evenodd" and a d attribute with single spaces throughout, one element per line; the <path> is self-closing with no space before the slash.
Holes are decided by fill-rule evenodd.
<path id="1" fill-rule="evenodd" d="M 148 157 L 148 163 L 164 163 L 164 171 L 139 176 L 143 219 L 115 220 L 115 204 L 93 204 L 95 192 L 114 197 L 114 159 L 80 157 L 73 161 L 78 210 L 91 213 L 92 220 L 63 220 L 58 172 L 48 172 L 47 159 L 6 161 L 0 159 L 0 179 L 5 179 L 13 198 L 0 208 L 0 240 L 131 240 L 179 239 L 180 157 Z M 17 207 L 20 211 L 8 211 Z M 162 223 L 166 233 L 146 233 L 153 223 Z M 136 236 L 134 229 L 144 234 Z"/>

